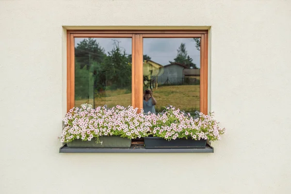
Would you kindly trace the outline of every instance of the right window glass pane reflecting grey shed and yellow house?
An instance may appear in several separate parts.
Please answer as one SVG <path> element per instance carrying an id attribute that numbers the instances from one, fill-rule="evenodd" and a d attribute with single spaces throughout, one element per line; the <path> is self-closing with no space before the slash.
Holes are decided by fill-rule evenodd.
<path id="1" fill-rule="evenodd" d="M 200 38 L 144 38 L 143 42 L 144 91 L 153 95 L 144 96 L 145 112 L 159 113 L 169 105 L 192 115 L 199 111 Z"/>

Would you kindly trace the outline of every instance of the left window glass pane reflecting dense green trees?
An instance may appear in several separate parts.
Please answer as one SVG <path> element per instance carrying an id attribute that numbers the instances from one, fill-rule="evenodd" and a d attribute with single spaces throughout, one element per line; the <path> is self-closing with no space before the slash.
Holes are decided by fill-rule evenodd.
<path id="1" fill-rule="evenodd" d="M 131 105 L 131 38 L 75 38 L 75 106 Z"/>

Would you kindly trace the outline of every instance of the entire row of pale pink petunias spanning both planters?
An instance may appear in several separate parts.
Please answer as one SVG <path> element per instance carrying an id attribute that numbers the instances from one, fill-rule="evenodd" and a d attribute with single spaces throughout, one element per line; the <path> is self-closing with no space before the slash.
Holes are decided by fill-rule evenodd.
<path id="1" fill-rule="evenodd" d="M 192 117 L 190 113 L 181 112 L 169 106 L 163 113 L 138 113 L 137 108 L 116 106 L 111 109 L 82 104 L 81 109 L 72 108 L 65 114 L 61 142 L 75 139 L 91 141 L 99 136 L 121 136 L 129 139 L 161 137 L 166 140 L 192 138 L 195 140 L 209 139 L 215 141 L 225 133 L 218 126 L 212 114 L 203 113 Z M 117 121 L 117 122 L 116 122 Z"/>

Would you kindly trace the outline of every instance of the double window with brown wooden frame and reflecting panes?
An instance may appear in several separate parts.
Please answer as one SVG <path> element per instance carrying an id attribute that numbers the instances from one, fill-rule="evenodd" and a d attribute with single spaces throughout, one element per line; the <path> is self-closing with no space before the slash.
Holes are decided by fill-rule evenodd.
<path id="1" fill-rule="evenodd" d="M 144 108 L 149 90 L 157 113 L 168 105 L 207 113 L 207 85 L 207 31 L 67 31 L 67 111 Z"/>

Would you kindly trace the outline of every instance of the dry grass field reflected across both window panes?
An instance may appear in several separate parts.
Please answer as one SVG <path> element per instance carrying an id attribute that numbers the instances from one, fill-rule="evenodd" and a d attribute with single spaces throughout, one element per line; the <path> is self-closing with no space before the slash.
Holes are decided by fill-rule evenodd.
<path id="1" fill-rule="evenodd" d="M 95 97 L 95 107 L 104 106 L 113 107 L 116 105 L 131 105 L 131 93 L 127 89 L 109 90 L 99 92 Z M 153 89 L 153 96 L 157 100 L 156 111 L 161 112 L 168 105 L 175 106 L 185 112 L 194 112 L 199 110 L 200 104 L 200 86 L 199 85 L 172 85 L 160 86 Z M 91 102 L 91 103 L 90 103 Z M 75 106 L 80 107 L 83 103 L 93 104 L 93 99 L 81 99 L 75 101 Z"/>

